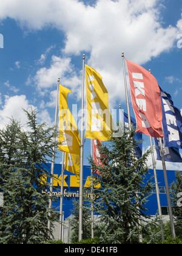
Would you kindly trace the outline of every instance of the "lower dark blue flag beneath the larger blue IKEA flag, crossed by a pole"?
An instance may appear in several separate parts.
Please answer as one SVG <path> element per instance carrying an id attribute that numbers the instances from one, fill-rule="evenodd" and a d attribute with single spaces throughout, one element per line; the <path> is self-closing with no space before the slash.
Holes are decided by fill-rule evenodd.
<path id="1" fill-rule="evenodd" d="M 162 139 L 162 141 L 163 141 L 163 139 Z M 160 144 L 159 144 L 158 138 L 155 138 L 155 146 L 156 146 L 155 149 L 157 152 L 157 160 L 161 161 Z M 182 163 L 180 150 L 178 148 L 164 147 L 164 143 L 163 143 L 163 148 L 164 148 L 164 159 L 166 162 Z"/>

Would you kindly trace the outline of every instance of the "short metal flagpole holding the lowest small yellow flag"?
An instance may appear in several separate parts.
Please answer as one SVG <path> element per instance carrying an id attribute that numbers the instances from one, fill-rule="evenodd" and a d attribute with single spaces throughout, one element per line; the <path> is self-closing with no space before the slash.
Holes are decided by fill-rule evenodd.
<path id="1" fill-rule="evenodd" d="M 61 196 L 60 196 L 60 209 L 59 209 L 59 240 L 62 240 L 62 228 L 63 228 L 63 220 L 62 220 L 62 205 L 63 205 L 63 183 L 64 183 L 64 160 L 65 160 L 65 152 L 62 152 L 62 168 L 61 168 Z"/>

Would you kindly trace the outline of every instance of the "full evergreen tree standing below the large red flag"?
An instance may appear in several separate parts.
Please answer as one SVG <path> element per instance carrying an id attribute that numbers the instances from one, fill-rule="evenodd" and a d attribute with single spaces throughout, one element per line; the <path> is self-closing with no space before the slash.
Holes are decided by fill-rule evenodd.
<path id="1" fill-rule="evenodd" d="M 125 128 L 121 137 L 110 139 L 109 146 L 100 146 L 99 152 L 106 155 L 99 158 L 102 165 L 96 166 L 90 159 L 92 168 L 100 172 L 94 185 L 100 183 L 101 188 L 94 189 L 98 196 L 94 205 L 95 212 L 101 215 L 100 221 L 106 226 L 99 238 L 101 243 L 138 243 L 144 231 L 139 220 L 149 218 L 144 205 L 152 184 L 144 183 L 144 179 L 149 171 L 146 161 L 150 151 L 138 159 L 133 151 L 138 147 L 134 135 L 135 130 Z"/>

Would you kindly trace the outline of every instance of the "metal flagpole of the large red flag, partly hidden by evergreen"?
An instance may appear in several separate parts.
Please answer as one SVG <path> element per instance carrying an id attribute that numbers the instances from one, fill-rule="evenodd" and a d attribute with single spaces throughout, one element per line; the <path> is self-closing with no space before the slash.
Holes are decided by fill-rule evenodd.
<path id="1" fill-rule="evenodd" d="M 125 86 L 125 93 L 126 93 L 126 104 L 127 104 L 127 117 L 128 117 L 128 123 L 129 123 L 129 130 L 132 130 L 132 121 L 131 121 L 131 116 L 130 116 L 130 106 L 129 106 L 129 96 L 128 96 L 128 90 L 127 90 L 127 82 L 126 82 L 126 69 L 124 65 L 124 52 L 122 52 L 122 60 L 123 60 L 123 70 L 124 70 L 124 86 Z M 136 192 L 136 197 L 138 197 L 138 192 Z M 140 208 L 137 206 L 136 207 L 138 212 L 140 212 Z M 138 219 L 138 226 L 141 229 L 141 221 Z M 139 241 L 140 243 L 143 242 L 143 237 L 140 234 L 139 236 Z"/>

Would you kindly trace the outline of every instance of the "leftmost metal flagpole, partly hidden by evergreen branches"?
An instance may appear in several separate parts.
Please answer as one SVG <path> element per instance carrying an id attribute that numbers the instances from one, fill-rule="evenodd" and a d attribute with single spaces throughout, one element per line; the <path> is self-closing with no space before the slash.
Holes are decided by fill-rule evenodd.
<path id="1" fill-rule="evenodd" d="M 59 82 L 60 78 L 58 78 L 58 88 L 57 88 L 57 96 L 56 96 L 56 110 L 55 110 L 55 132 L 56 132 L 56 126 L 57 126 L 57 115 L 58 115 L 58 99 L 59 99 Z M 56 142 L 56 136 L 54 138 L 54 143 Z M 50 199 L 49 199 L 49 209 L 52 208 L 52 194 L 53 194 L 53 175 L 54 175 L 54 169 L 55 169 L 55 147 L 53 147 L 53 154 L 52 154 L 52 163 L 51 163 L 51 177 L 50 177 Z M 50 213 L 49 213 L 50 216 Z M 49 230 L 49 236 L 51 231 L 51 225 L 50 220 L 47 224 L 48 230 Z"/>

